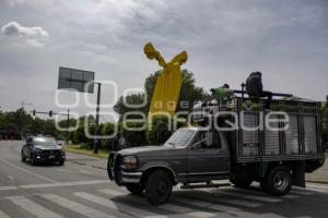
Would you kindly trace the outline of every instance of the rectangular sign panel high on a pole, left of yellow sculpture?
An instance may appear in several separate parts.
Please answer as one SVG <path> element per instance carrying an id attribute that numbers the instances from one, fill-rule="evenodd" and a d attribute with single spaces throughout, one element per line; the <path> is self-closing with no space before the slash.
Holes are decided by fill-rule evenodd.
<path id="1" fill-rule="evenodd" d="M 75 89 L 81 93 L 93 93 L 93 83 L 90 84 L 87 89 L 84 87 L 86 83 L 93 81 L 94 72 L 59 66 L 59 89 Z"/>

